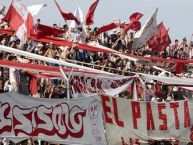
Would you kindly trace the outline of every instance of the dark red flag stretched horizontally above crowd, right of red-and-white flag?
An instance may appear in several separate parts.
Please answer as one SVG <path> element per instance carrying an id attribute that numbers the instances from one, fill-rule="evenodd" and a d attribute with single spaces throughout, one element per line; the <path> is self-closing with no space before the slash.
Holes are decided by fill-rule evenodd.
<path id="1" fill-rule="evenodd" d="M 51 35 L 57 37 L 57 36 L 59 36 L 63 33 L 65 33 L 64 30 L 39 24 L 38 27 L 37 27 L 36 36 L 38 38 L 43 38 L 45 36 L 51 36 Z"/>

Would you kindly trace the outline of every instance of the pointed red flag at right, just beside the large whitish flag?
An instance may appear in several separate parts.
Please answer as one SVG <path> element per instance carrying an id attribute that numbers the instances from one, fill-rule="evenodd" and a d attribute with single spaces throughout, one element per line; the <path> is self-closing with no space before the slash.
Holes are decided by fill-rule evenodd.
<path id="1" fill-rule="evenodd" d="M 148 46 L 156 51 L 163 51 L 170 43 L 171 40 L 168 35 L 168 30 L 166 30 L 163 22 L 158 25 L 157 33 L 147 42 Z"/>

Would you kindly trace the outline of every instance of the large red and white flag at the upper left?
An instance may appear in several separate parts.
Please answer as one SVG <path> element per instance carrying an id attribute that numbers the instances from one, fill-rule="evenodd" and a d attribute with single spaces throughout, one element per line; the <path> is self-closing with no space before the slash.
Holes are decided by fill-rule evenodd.
<path id="1" fill-rule="evenodd" d="M 12 0 L 4 20 L 16 31 L 21 42 L 25 42 L 33 32 L 33 17 L 21 0 Z"/>

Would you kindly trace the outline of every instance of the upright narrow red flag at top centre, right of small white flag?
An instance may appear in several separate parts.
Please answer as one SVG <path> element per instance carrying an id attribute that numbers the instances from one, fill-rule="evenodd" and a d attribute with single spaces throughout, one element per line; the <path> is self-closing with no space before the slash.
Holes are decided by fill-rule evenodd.
<path id="1" fill-rule="evenodd" d="M 99 0 L 96 0 L 89 8 L 87 15 L 86 15 L 86 21 L 85 21 L 85 25 L 89 26 L 94 24 L 94 12 L 95 9 L 98 5 Z"/>

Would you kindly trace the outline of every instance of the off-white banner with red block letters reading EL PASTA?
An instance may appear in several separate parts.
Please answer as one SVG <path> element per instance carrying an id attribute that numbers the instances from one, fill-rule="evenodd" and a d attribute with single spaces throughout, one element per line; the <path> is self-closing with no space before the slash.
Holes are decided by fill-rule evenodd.
<path id="1" fill-rule="evenodd" d="M 142 145 L 193 141 L 193 102 L 138 102 L 102 96 L 107 141 L 110 145 Z"/>

